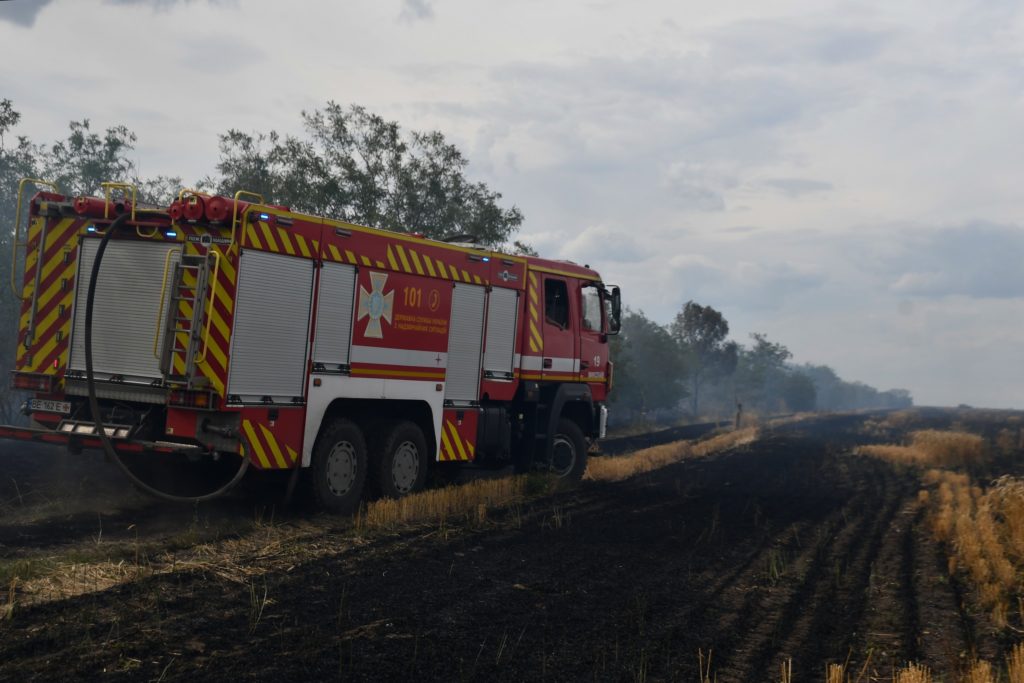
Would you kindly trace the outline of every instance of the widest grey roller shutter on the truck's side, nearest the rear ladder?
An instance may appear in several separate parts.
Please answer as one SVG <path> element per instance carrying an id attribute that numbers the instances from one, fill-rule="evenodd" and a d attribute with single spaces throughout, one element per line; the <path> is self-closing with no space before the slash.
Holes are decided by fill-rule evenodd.
<path id="1" fill-rule="evenodd" d="M 313 262 L 242 252 L 227 393 L 244 402 L 301 397 L 305 388 Z"/>

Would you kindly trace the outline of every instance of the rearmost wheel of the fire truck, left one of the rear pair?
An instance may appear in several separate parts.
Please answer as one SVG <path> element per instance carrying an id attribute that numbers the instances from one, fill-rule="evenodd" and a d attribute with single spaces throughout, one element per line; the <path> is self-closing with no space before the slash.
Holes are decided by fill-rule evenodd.
<path id="1" fill-rule="evenodd" d="M 351 420 L 332 420 L 313 446 L 305 475 L 309 503 L 337 514 L 355 512 L 367 482 L 367 442 Z"/>

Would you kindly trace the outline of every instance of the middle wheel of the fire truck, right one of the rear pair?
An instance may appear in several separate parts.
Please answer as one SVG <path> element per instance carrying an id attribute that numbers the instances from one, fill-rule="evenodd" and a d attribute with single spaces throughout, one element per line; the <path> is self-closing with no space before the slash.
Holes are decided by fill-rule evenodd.
<path id="1" fill-rule="evenodd" d="M 382 425 L 373 449 L 373 473 L 377 490 L 384 498 L 401 498 L 423 490 L 429 455 L 423 430 L 402 420 Z"/>

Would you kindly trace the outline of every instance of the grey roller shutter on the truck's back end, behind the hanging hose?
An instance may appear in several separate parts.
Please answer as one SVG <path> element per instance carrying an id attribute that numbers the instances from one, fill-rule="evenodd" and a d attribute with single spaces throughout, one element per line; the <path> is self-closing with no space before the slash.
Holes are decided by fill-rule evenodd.
<path id="1" fill-rule="evenodd" d="M 83 240 L 80 250 L 69 368 L 82 372 L 85 303 L 99 242 Z M 158 310 L 164 260 L 172 249 L 178 252 L 171 256 L 164 307 Z M 160 360 L 153 353 L 153 340 L 158 330 L 163 333 L 174 265 L 179 257 L 180 246 L 174 244 L 127 240 L 106 244 L 92 306 L 92 364 L 98 376 L 120 375 L 125 381 L 145 383 L 163 377 Z"/>

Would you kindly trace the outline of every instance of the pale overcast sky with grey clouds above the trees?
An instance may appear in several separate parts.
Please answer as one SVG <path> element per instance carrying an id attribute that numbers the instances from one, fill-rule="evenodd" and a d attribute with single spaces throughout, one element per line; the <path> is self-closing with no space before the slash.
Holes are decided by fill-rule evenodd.
<path id="1" fill-rule="evenodd" d="M 229 128 L 361 104 L 655 321 L 1024 408 L 1021 3 L 4 0 L 0 44 L 36 141 L 124 124 L 142 176 L 198 179 Z"/>

